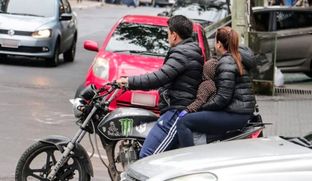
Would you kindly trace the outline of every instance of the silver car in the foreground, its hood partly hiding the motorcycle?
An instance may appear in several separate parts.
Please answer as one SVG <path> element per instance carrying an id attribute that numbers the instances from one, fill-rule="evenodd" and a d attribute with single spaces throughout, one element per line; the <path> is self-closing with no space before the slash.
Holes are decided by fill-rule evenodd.
<path id="1" fill-rule="evenodd" d="M 220 142 L 141 159 L 120 181 L 310 181 L 312 133 Z"/>

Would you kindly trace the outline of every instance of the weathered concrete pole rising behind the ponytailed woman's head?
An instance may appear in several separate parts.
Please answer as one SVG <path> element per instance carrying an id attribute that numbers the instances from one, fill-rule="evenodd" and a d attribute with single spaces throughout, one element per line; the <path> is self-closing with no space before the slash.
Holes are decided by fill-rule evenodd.
<path id="1" fill-rule="evenodd" d="M 248 0 L 233 0 L 232 28 L 239 35 L 239 44 L 248 46 L 248 20 L 246 8 Z"/>

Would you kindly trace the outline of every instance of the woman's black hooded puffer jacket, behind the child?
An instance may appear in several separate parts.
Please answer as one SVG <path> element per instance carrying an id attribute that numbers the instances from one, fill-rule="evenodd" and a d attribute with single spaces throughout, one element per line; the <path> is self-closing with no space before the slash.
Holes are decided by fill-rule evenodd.
<path id="1" fill-rule="evenodd" d="M 223 55 L 216 67 L 215 83 L 217 95 L 202 106 L 202 110 L 218 110 L 233 113 L 253 114 L 254 93 L 250 70 L 255 66 L 254 53 L 241 45 L 239 53 L 242 58 L 244 75 L 240 76 L 235 60 L 229 53 Z"/>

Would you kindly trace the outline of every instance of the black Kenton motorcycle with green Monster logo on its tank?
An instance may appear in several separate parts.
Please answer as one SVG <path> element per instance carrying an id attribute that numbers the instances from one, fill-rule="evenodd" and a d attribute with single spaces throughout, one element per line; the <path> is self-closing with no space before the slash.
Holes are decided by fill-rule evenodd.
<path id="1" fill-rule="evenodd" d="M 74 178 L 78 178 L 78 181 L 90 181 L 94 176 L 90 158 L 95 152 L 91 134 L 94 134 L 99 159 L 107 167 L 111 180 L 119 181 L 120 173 L 139 159 L 140 148 L 158 119 L 155 113 L 141 108 L 117 108 L 109 112 L 109 104 L 126 91 L 126 88 L 120 89 L 116 81 L 99 89 L 93 84 L 82 89 L 79 98 L 72 101 L 74 115 L 78 118 L 77 124 L 80 127 L 76 136 L 73 139 L 62 136 L 40 138 L 20 157 L 15 181 L 27 181 L 29 177 L 40 181 L 69 181 Z M 265 129 L 265 124 L 271 123 L 262 123 L 261 119 L 250 120 L 242 129 L 220 135 L 194 132 L 195 145 L 258 137 Z M 93 148 L 91 156 L 79 143 L 86 133 L 89 133 Z M 100 155 L 96 135 L 106 152 L 108 164 Z M 116 156 L 117 147 L 119 150 Z M 59 159 L 56 159 L 55 152 L 60 155 Z M 30 164 L 41 153 L 46 153 L 43 157 L 44 164 L 37 164 L 39 168 L 36 169 L 31 168 Z M 117 164 L 120 163 L 123 170 L 117 169 Z M 77 173 L 79 177 L 76 177 Z"/>

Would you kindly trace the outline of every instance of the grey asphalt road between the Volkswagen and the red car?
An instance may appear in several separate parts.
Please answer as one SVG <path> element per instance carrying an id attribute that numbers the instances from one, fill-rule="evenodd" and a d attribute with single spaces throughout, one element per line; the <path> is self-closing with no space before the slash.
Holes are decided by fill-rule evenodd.
<path id="1" fill-rule="evenodd" d="M 36 59 L 0 60 L 0 181 L 14 180 L 20 156 L 38 138 L 46 135 L 73 138 L 78 131 L 69 100 L 73 99 L 96 56 L 96 52 L 83 49 L 83 41 L 96 40 L 102 44 L 122 16 L 157 15 L 163 10 L 126 6 L 78 10 L 78 44 L 74 62 L 46 68 L 44 61 Z M 92 152 L 88 137 L 82 145 Z M 92 161 L 95 170 L 92 180 L 109 181 L 100 160 L 94 157 Z"/>

